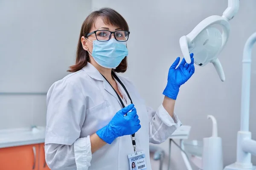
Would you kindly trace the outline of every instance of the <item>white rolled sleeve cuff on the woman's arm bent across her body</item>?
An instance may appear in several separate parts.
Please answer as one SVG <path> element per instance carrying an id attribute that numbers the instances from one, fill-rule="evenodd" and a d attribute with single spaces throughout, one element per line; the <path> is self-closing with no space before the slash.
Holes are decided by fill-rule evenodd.
<path id="1" fill-rule="evenodd" d="M 92 160 L 90 136 L 79 138 L 74 142 L 77 170 L 88 170 Z"/>

